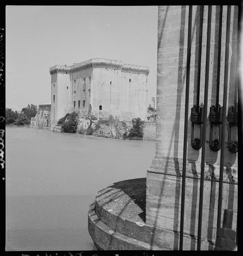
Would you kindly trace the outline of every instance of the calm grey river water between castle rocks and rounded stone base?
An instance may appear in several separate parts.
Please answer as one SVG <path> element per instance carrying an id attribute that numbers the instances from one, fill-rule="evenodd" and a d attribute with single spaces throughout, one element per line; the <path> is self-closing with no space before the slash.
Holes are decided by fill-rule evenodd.
<path id="1" fill-rule="evenodd" d="M 146 177 L 155 141 L 6 127 L 6 251 L 93 250 L 98 190 Z"/>

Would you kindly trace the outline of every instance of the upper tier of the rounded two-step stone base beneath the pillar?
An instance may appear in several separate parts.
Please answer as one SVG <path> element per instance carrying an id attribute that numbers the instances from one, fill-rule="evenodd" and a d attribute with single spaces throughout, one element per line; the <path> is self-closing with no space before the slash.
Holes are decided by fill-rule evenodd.
<path id="1" fill-rule="evenodd" d="M 95 212 L 102 223 L 130 238 L 167 250 L 174 232 L 145 224 L 146 178 L 116 182 L 96 195 Z M 162 245 L 162 246 L 161 246 Z"/>

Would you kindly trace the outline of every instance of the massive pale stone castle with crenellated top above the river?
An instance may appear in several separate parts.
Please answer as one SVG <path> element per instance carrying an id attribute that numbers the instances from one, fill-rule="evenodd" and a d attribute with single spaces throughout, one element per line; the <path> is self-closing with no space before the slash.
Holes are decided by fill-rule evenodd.
<path id="1" fill-rule="evenodd" d="M 119 120 L 147 120 L 149 67 L 111 59 L 55 65 L 51 74 L 51 125 L 73 111 L 105 111 Z"/>

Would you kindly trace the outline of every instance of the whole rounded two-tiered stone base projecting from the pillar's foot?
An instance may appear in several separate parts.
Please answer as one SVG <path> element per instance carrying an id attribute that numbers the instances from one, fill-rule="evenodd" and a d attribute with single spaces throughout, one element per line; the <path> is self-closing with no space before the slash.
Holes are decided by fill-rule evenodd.
<path id="1" fill-rule="evenodd" d="M 88 210 L 94 248 L 178 250 L 179 233 L 146 224 L 145 209 L 146 178 L 116 182 L 100 190 Z M 190 250 L 192 242 L 196 245 L 196 238 L 184 233 L 184 250 Z M 209 250 L 208 241 L 202 240 L 201 248 Z"/>

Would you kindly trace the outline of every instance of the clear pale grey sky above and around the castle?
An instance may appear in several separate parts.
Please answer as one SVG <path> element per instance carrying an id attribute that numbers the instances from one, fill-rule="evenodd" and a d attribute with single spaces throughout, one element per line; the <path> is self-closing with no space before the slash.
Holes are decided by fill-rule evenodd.
<path id="1" fill-rule="evenodd" d="M 6 6 L 6 108 L 51 101 L 54 65 L 92 58 L 148 66 L 156 97 L 157 6 Z"/>

